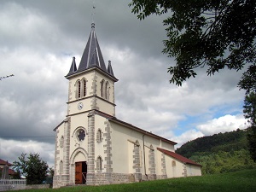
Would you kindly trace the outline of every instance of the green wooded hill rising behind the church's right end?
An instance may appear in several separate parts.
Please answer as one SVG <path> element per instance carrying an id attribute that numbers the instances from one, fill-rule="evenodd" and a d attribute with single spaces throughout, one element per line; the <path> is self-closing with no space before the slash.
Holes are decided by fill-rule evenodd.
<path id="1" fill-rule="evenodd" d="M 247 148 L 247 130 L 237 129 L 200 137 L 183 144 L 176 153 L 201 164 L 203 174 L 256 167 Z"/>

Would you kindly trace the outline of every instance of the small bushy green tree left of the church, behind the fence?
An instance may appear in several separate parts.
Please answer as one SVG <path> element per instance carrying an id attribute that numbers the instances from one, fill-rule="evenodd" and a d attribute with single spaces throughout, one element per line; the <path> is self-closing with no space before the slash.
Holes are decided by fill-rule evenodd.
<path id="1" fill-rule="evenodd" d="M 21 154 L 19 161 L 14 162 L 16 172 L 26 177 L 27 184 L 41 184 L 47 177 L 49 166 L 39 157 L 39 154 Z"/>

